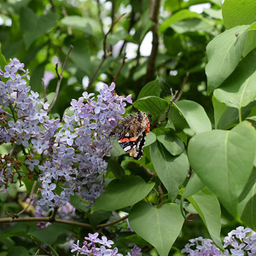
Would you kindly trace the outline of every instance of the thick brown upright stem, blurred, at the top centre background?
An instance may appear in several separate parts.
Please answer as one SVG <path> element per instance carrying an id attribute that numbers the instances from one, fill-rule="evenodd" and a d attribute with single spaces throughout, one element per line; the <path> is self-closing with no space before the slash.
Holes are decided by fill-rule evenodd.
<path id="1" fill-rule="evenodd" d="M 160 0 L 150 0 L 149 1 L 149 19 L 154 21 L 154 26 L 152 27 L 151 31 L 153 33 L 153 41 L 152 41 L 152 49 L 151 54 L 148 58 L 148 67 L 147 73 L 145 78 L 145 83 L 148 84 L 153 79 L 154 76 L 154 64 L 156 60 L 156 55 L 158 52 L 158 16 L 160 10 Z"/>

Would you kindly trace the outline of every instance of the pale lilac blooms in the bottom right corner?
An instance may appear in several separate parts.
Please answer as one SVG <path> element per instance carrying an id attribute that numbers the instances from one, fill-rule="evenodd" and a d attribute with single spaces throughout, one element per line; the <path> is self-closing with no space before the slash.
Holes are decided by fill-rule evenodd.
<path id="1" fill-rule="evenodd" d="M 256 232 L 240 226 L 236 228 L 236 230 L 230 231 L 228 236 L 224 237 L 224 248 L 226 247 L 230 247 L 230 251 L 226 249 L 224 253 L 222 253 L 218 247 L 212 245 L 211 239 L 205 239 L 200 236 L 195 239 L 190 239 L 189 243 L 185 245 L 181 253 L 188 253 L 187 255 L 191 256 L 255 256 Z"/>

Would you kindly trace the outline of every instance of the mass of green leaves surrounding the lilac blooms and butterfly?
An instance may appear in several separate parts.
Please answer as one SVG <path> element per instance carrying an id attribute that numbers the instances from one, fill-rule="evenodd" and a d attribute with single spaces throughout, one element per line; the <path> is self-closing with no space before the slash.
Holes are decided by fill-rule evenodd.
<path id="1" fill-rule="evenodd" d="M 211 7 L 201 14 L 189 9 L 199 3 Z M 32 90 L 41 98 L 48 93 L 49 103 L 69 47 L 74 47 L 52 116 L 62 117 L 84 90 L 97 93 L 102 83 L 114 81 L 119 95 L 132 94 L 125 115 L 140 110 L 150 119 L 141 160 L 132 160 L 114 139 L 106 158 L 105 192 L 92 207 L 79 195 L 72 196 L 75 224 L 53 223 L 37 230 L 31 222 L 1 223 L 4 255 L 35 254 L 38 246 L 31 236 L 55 255 L 70 255 L 70 245 L 61 247 L 69 240 L 67 231 L 74 240 L 83 240 L 95 229 L 113 241 L 118 237 L 121 251 L 132 241 L 143 247 L 144 255 L 181 255 L 195 236 L 210 237 L 222 247 L 226 233 L 221 228 L 230 231 L 243 224 L 256 229 L 255 0 L 225 0 L 223 6 L 218 0 L 163 1 L 159 26 L 154 26 L 146 0 L 0 4 L 0 66 L 3 69 L 10 57 L 24 62 Z M 150 31 L 159 42 L 155 59 L 154 52 L 148 56 L 139 50 L 125 58 L 131 53 L 129 45 L 144 47 Z M 148 73 L 151 58 L 154 72 Z M 171 88 L 181 92 L 177 102 Z M 0 154 L 10 147 L 1 145 Z M 32 183 L 24 180 L 24 190 L 12 185 L 9 195 L 0 194 L 1 218 L 9 217 L 5 211 L 25 208 L 20 201 L 29 197 Z M 20 218 L 34 212 L 32 207 Z M 137 236 L 119 222 L 124 214 L 129 214 Z M 184 224 L 185 215 L 193 221 Z"/>

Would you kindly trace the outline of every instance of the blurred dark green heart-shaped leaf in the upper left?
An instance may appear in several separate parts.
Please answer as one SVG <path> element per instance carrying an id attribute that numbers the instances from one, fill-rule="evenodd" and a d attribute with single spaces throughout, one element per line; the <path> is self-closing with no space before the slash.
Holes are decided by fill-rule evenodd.
<path id="1" fill-rule="evenodd" d="M 32 9 L 22 7 L 20 9 L 20 27 L 24 31 L 23 38 L 28 49 L 31 44 L 45 32 L 55 26 L 58 15 L 48 13 L 47 15 L 38 16 Z"/>

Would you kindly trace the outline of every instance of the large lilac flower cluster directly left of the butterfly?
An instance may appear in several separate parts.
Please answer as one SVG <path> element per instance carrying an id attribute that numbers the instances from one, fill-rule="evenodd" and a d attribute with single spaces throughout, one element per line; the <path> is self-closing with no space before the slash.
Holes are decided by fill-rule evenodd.
<path id="1" fill-rule="evenodd" d="M 76 191 L 86 201 L 94 202 L 102 194 L 102 175 L 107 170 L 104 156 L 109 156 L 112 140 L 109 133 L 125 113 L 126 98 L 113 93 L 115 85 L 105 85 L 99 95 L 83 93 L 73 100 L 64 113 L 64 125 L 55 132 L 44 154 L 50 155 L 39 177 L 42 183 L 41 207 L 60 207 Z M 50 127 L 49 127 L 50 128 Z M 55 182 L 64 181 L 61 195 L 56 195 Z"/>

